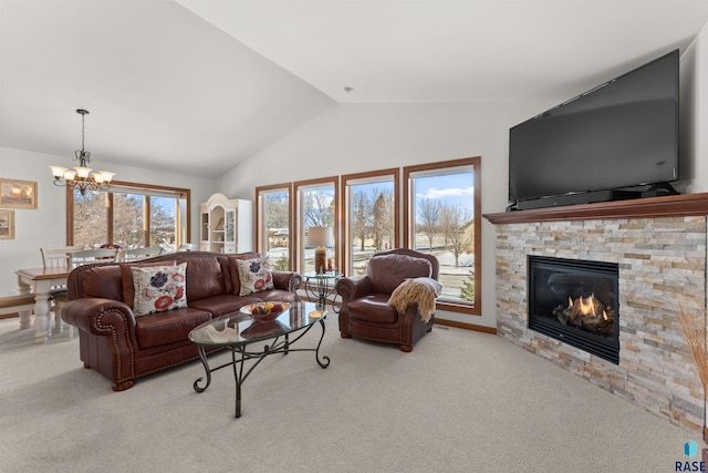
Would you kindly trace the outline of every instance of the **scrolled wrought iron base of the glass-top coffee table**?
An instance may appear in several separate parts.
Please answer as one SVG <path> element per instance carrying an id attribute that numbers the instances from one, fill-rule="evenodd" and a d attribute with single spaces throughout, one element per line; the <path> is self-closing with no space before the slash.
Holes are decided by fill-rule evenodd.
<path id="1" fill-rule="evenodd" d="M 320 364 L 321 368 L 326 368 L 330 366 L 330 357 L 323 356 L 320 359 L 320 347 L 322 346 L 322 340 L 324 339 L 324 319 L 320 320 L 320 326 L 322 327 L 322 335 L 320 336 L 320 341 L 317 342 L 316 348 L 291 348 L 293 343 L 304 337 L 305 333 L 314 327 L 308 326 L 301 333 L 298 335 L 296 338 L 290 340 L 289 333 L 279 335 L 274 339 L 272 339 L 272 345 L 263 346 L 262 351 L 251 351 L 248 350 L 249 345 L 251 343 L 239 343 L 233 346 L 227 346 L 229 350 L 231 350 L 231 361 L 220 364 L 216 368 L 209 368 L 209 361 L 207 360 L 207 353 L 205 349 L 207 348 L 204 345 L 199 345 L 199 358 L 201 359 L 201 363 L 204 364 L 204 369 L 207 374 L 207 381 L 204 387 L 199 385 L 204 378 L 199 378 L 195 381 L 194 388 L 197 392 L 204 392 L 211 384 L 211 373 L 214 371 L 218 371 L 221 368 L 233 367 L 233 380 L 236 381 L 236 418 L 241 417 L 241 385 L 249 377 L 249 374 L 253 371 L 253 369 L 260 364 L 261 361 L 269 354 L 283 353 L 288 354 L 291 351 L 314 351 L 315 352 L 315 361 Z M 260 340 L 263 341 L 263 340 Z M 257 343 L 256 341 L 253 343 Z M 240 353 L 240 359 L 237 359 L 236 353 Z M 256 362 L 251 364 L 248 369 L 244 369 L 246 361 L 254 359 Z"/>

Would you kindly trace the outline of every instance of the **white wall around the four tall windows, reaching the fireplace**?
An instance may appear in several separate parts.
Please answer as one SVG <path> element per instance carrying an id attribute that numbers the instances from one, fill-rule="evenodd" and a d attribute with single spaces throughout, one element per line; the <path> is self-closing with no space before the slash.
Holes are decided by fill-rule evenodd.
<path id="1" fill-rule="evenodd" d="M 481 156 L 482 213 L 503 212 L 509 127 L 552 105 L 340 104 L 236 166 L 217 187 L 253 199 L 261 185 Z M 481 251 L 482 316 L 438 317 L 496 327 L 494 228 L 487 220 Z"/>

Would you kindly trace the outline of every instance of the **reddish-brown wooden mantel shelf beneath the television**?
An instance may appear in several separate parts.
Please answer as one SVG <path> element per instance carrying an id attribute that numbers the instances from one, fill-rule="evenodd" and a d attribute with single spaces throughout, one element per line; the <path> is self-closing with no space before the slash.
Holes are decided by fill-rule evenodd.
<path id="1" fill-rule="evenodd" d="M 503 225 L 555 220 L 687 217 L 693 215 L 708 215 L 708 193 L 533 208 L 483 214 L 482 216 L 494 225 Z"/>

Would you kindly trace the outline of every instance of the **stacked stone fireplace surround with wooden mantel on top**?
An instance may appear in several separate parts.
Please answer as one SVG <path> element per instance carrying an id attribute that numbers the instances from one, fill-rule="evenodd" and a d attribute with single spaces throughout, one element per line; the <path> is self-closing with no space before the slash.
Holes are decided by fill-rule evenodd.
<path id="1" fill-rule="evenodd" d="M 700 431 L 704 393 L 678 313 L 680 301 L 706 307 L 706 215 L 708 194 L 485 215 L 497 232 L 498 336 L 671 423 Z M 612 278 L 600 282 L 602 274 L 583 282 L 574 268 L 556 271 L 542 266 L 530 273 L 529 261 L 535 258 L 544 264 L 560 259 L 616 267 L 616 289 Z M 551 278 L 556 273 L 561 275 Z M 572 299 L 589 297 L 587 288 L 571 288 L 574 284 L 604 288 L 596 292 L 616 290 L 615 307 L 606 295 L 601 300 L 615 309 L 616 360 L 530 322 L 529 287 L 534 278 L 543 279 L 545 287 L 551 279 L 556 290 L 572 292 L 570 302 L 556 304 L 549 295 L 553 288 L 544 289 L 543 296 L 552 299 L 544 304 L 554 305 L 551 312 L 561 306 L 556 319 L 572 316 Z M 602 325 L 591 322 L 591 332 L 593 323 Z"/>

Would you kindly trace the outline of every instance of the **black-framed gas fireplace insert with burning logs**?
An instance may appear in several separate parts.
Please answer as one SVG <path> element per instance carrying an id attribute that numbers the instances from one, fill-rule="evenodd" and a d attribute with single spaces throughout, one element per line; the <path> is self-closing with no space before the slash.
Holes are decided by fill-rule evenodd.
<path id="1" fill-rule="evenodd" d="M 616 264 L 528 257 L 529 328 L 620 362 Z"/>

